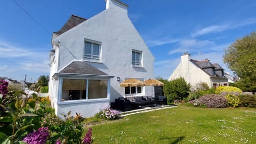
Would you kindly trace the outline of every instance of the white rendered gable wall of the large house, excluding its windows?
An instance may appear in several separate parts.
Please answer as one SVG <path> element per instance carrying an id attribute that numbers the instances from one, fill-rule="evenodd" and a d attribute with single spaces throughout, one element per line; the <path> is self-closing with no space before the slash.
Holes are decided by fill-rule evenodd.
<path id="1" fill-rule="evenodd" d="M 115 76 L 111 79 L 110 90 L 110 101 L 114 101 L 115 98 L 124 97 L 124 87 L 119 86 L 124 78 L 154 78 L 154 57 L 127 17 L 127 10 L 110 2 L 107 10 L 55 37 L 55 41 L 60 41 L 59 69 L 72 60 L 83 60 L 85 38 L 102 43 L 102 61 L 88 63 Z M 142 68 L 131 67 L 132 49 L 142 51 Z M 117 77 L 121 81 L 117 82 Z M 143 95 L 151 95 L 150 86 L 145 87 Z"/>

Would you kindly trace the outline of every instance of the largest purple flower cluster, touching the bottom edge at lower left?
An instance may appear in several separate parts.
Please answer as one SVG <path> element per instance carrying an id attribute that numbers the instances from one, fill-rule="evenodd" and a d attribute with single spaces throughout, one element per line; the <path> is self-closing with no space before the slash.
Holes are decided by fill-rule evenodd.
<path id="1" fill-rule="evenodd" d="M 37 131 L 29 133 L 23 141 L 28 144 L 44 144 L 49 136 L 48 127 L 41 127 Z"/>

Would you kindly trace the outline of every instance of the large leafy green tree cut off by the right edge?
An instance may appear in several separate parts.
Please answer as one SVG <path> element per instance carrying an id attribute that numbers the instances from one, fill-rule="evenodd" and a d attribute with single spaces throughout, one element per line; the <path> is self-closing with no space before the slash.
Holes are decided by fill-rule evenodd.
<path id="1" fill-rule="evenodd" d="M 237 39 L 225 50 L 223 62 L 249 85 L 256 83 L 256 33 Z"/>

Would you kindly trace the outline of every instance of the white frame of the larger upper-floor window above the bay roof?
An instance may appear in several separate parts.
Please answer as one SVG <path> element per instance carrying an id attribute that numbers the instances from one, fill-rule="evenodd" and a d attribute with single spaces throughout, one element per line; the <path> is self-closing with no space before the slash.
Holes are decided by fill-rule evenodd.
<path id="1" fill-rule="evenodd" d="M 85 54 L 85 43 L 91 43 L 91 54 L 90 54 L 90 57 L 86 57 L 85 55 L 89 55 L 89 54 Z M 99 55 L 93 55 L 93 45 L 99 45 Z M 83 52 L 83 59 L 85 61 L 95 61 L 95 62 L 101 62 L 101 42 L 99 41 L 94 41 L 92 39 L 87 39 L 85 38 L 84 39 L 84 52 Z M 98 57 L 95 58 L 95 57 Z"/>

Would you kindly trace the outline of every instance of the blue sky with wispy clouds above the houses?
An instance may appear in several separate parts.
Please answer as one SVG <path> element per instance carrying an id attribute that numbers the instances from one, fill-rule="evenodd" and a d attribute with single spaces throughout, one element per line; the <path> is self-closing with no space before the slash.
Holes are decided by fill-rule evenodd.
<path id="1" fill-rule="evenodd" d="M 129 1 L 128 15 L 155 57 L 154 76 L 168 78 L 188 52 L 192 59 L 222 62 L 224 50 L 256 30 L 256 1 Z M 51 34 L 71 14 L 89 19 L 105 10 L 104 0 L 0 1 L 0 76 L 37 81 L 49 75 Z"/>

